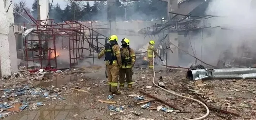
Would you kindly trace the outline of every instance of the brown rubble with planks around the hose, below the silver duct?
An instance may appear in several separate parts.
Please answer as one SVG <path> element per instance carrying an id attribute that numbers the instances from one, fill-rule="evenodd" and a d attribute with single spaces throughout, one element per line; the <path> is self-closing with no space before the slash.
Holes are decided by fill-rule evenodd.
<path id="1" fill-rule="evenodd" d="M 167 72 L 167 73 L 166 73 Z M 163 77 L 166 89 L 183 96 L 199 99 L 210 110 L 207 118 L 244 120 L 255 118 L 255 87 L 252 81 L 224 79 L 187 81 L 187 70 L 169 69 L 156 72 Z M 152 75 L 145 70 L 136 71 L 134 91 L 123 90 L 124 96 L 101 96 L 107 103 L 112 118 L 122 120 L 192 119 L 206 113 L 198 103 L 166 94 L 151 83 Z M 103 109 L 104 110 L 104 109 Z M 121 114 L 120 114 L 121 113 Z"/>

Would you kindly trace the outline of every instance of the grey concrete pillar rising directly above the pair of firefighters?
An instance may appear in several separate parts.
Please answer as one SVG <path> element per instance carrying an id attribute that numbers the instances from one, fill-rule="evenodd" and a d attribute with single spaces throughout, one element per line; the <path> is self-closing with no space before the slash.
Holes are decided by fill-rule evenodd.
<path id="1" fill-rule="evenodd" d="M 116 0 L 107 0 L 107 27 L 109 34 L 116 34 Z"/>

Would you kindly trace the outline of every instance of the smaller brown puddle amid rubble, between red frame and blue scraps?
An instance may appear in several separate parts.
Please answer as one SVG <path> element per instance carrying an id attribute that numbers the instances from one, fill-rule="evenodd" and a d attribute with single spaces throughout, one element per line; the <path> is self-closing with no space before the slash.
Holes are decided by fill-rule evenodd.
<path id="1" fill-rule="evenodd" d="M 44 81 L 36 81 L 34 84 L 38 86 L 43 87 L 49 87 L 49 86 L 55 86 L 55 87 L 61 87 L 62 85 L 68 83 L 68 82 L 75 82 L 78 81 L 79 78 L 74 75 L 63 75 L 64 78 L 61 78 L 59 76 L 53 77 L 52 81 L 44 82 Z"/>

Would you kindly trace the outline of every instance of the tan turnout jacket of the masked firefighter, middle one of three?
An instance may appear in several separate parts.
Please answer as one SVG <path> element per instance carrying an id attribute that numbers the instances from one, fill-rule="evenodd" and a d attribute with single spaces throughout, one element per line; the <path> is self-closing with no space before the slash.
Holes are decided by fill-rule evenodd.
<path id="1" fill-rule="evenodd" d="M 122 58 L 121 69 L 132 68 L 136 60 L 134 50 L 128 46 L 125 48 L 122 47 L 120 51 L 121 51 L 121 58 Z"/>

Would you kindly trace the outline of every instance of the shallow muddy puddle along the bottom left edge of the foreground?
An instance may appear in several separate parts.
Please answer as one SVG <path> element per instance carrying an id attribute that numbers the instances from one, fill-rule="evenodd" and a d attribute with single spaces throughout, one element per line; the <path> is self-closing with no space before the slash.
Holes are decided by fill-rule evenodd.
<path id="1" fill-rule="evenodd" d="M 38 111 L 22 111 L 3 120 L 67 120 L 76 114 L 86 114 L 86 108 L 74 105 L 48 105 Z"/>

